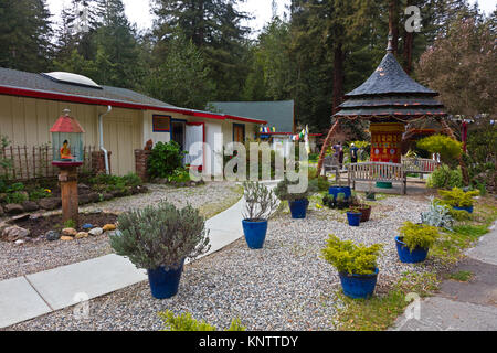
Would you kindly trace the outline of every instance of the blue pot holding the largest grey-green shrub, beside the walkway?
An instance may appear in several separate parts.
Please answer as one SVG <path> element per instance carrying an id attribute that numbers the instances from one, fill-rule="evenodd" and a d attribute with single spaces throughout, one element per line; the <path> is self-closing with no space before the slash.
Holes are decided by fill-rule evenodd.
<path id="1" fill-rule="evenodd" d="M 156 299 L 167 299 L 178 293 L 181 274 L 183 272 L 184 259 L 177 269 L 166 270 L 163 267 L 149 269 L 148 281 L 152 297 Z"/>

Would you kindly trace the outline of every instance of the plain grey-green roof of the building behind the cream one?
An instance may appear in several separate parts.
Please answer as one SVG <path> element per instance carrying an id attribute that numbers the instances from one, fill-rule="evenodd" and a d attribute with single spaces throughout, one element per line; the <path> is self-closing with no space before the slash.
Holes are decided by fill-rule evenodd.
<path id="1" fill-rule="evenodd" d="M 263 119 L 278 132 L 294 132 L 294 100 L 211 101 L 218 111 L 250 119 Z"/>

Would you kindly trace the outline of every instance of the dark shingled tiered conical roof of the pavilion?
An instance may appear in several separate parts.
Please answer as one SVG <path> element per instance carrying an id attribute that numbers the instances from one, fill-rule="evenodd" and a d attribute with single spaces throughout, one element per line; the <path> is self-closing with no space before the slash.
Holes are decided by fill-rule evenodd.
<path id="1" fill-rule="evenodd" d="M 389 122 L 445 116 L 436 96 L 436 92 L 420 85 L 404 72 L 389 46 L 380 66 L 361 86 L 346 95 L 347 100 L 335 117 Z"/>

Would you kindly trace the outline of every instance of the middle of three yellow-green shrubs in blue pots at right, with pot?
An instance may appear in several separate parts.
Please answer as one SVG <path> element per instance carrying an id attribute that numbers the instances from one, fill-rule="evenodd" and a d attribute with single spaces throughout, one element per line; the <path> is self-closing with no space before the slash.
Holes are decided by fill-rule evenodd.
<path id="1" fill-rule="evenodd" d="M 404 264 L 417 264 L 426 259 L 430 247 L 440 236 L 438 228 L 426 224 L 405 222 L 395 237 L 399 258 Z"/>

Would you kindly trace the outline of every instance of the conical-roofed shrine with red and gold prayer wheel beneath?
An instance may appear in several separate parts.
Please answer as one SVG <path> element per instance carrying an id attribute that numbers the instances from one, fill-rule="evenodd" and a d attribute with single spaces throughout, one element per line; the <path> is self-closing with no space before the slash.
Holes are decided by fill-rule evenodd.
<path id="1" fill-rule="evenodd" d="M 406 125 L 446 116 L 436 96 L 436 92 L 416 83 L 404 72 L 393 55 L 390 38 L 387 55 L 378 68 L 361 86 L 345 96 L 346 101 L 334 117 L 370 121 L 371 162 L 401 163 Z"/>

